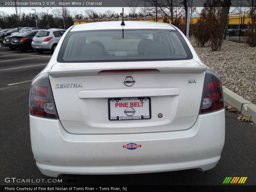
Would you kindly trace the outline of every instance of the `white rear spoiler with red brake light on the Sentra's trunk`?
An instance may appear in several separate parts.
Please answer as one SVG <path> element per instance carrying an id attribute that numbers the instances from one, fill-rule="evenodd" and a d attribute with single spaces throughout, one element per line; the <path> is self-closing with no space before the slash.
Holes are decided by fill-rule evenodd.
<path id="1" fill-rule="evenodd" d="M 120 74 L 193 74 L 204 73 L 206 66 L 130 66 L 130 67 L 103 67 L 103 68 L 76 68 L 76 69 L 51 69 L 48 74 L 55 77 L 120 75 Z M 132 72 L 131 72 L 132 71 Z"/>

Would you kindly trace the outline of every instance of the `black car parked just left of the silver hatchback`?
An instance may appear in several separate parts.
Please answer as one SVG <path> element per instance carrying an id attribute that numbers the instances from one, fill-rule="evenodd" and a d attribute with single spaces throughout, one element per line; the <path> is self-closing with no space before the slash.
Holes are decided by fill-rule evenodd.
<path id="1" fill-rule="evenodd" d="M 36 35 L 37 31 L 29 31 L 19 34 L 18 36 L 12 36 L 12 47 L 18 48 L 22 52 L 27 50 L 33 50 L 31 47 L 32 38 Z"/>

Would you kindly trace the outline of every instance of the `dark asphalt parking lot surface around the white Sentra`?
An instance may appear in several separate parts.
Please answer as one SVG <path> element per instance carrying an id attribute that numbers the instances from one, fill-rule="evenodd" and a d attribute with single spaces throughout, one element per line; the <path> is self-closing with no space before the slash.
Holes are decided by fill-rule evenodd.
<path id="1" fill-rule="evenodd" d="M 49 179 L 36 167 L 31 151 L 28 99 L 32 79 L 46 66 L 51 55 L 50 52 L 23 53 L 9 48 L 0 51 L 0 185 L 29 184 L 6 183 L 4 180 L 7 177 Z M 236 116 L 226 111 L 225 145 L 219 163 L 212 170 L 72 177 L 76 179 L 77 185 L 222 185 L 226 177 L 248 177 L 245 184 L 233 185 L 256 185 L 256 126 L 238 122 Z M 31 184 L 70 184 L 66 178 L 66 175 L 60 176 L 61 183 Z"/>

